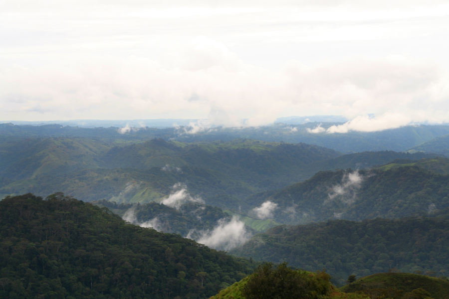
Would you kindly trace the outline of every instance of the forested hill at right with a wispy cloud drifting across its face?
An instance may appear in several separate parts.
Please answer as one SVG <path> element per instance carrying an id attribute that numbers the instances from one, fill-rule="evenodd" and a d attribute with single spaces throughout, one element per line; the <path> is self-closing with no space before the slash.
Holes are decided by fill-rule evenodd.
<path id="1" fill-rule="evenodd" d="M 321 171 L 278 192 L 251 196 L 247 202 L 271 202 L 276 205 L 272 217 L 290 224 L 427 215 L 449 207 L 449 176 L 418 166 Z"/>

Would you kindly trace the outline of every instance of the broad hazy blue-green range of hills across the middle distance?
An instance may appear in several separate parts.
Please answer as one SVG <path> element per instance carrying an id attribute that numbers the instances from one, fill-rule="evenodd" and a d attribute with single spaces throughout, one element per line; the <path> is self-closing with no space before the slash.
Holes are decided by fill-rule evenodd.
<path id="1" fill-rule="evenodd" d="M 181 182 L 208 204 L 225 207 L 217 198 L 227 196 L 231 202 L 227 200 L 226 208 L 250 209 L 243 201 L 249 195 L 308 179 L 320 170 L 431 157 L 394 151 L 340 155 L 313 145 L 245 139 L 118 144 L 87 138 L 6 138 L 0 142 L 0 198 L 62 191 L 86 201 L 148 202 L 169 195 Z"/>

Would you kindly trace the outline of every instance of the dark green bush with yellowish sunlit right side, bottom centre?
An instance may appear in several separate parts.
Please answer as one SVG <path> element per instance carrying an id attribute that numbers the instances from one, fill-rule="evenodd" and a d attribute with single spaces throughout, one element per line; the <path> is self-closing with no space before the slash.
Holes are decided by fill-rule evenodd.
<path id="1" fill-rule="evenodd" d="M 311 274 L 292 270 L 287 263 L 274 267 L 272 263 L 259 266 L 241 289 L 246 299 L 319 299 L 332 290 L 329 275 L 324 271 Z"/>

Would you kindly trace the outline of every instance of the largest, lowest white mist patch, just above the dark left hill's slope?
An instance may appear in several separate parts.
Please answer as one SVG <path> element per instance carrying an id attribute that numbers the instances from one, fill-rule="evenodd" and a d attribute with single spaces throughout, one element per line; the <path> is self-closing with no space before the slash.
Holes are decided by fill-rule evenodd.
<path id="1" fill-rule="evenodd" d="M 250 238 L 245 224 L 233 217 L 230 221 L 221 219 L 212 231 L 205 231 L 196 241 L 206 246 L 229 250 L 243 244 Z"/>

